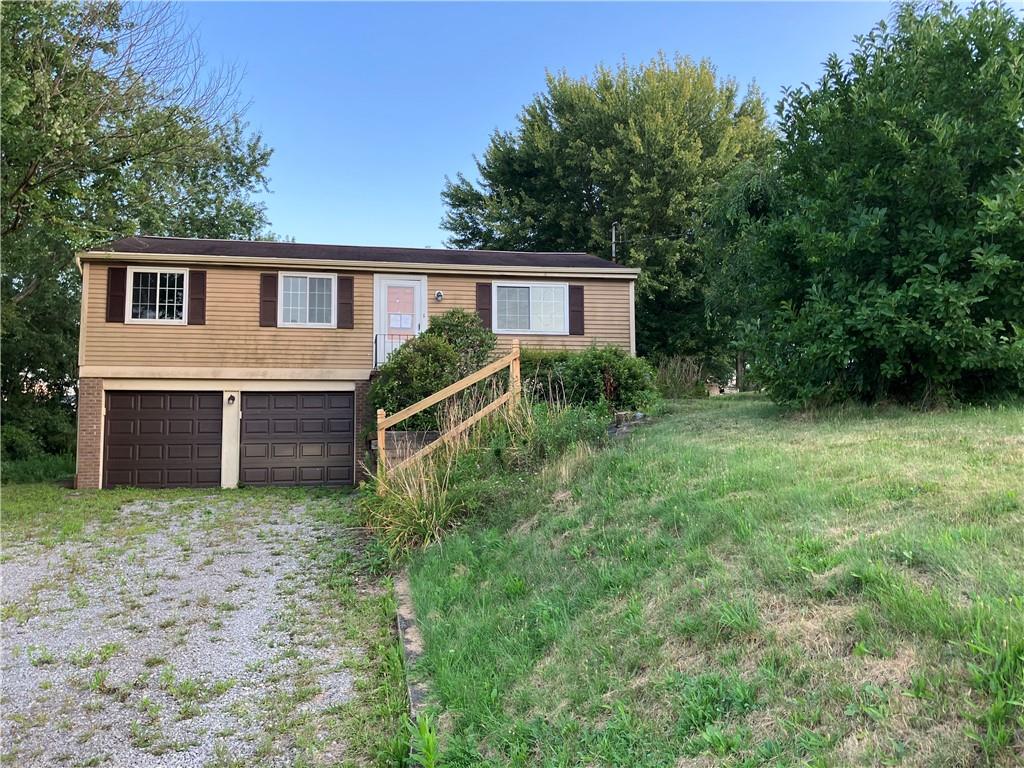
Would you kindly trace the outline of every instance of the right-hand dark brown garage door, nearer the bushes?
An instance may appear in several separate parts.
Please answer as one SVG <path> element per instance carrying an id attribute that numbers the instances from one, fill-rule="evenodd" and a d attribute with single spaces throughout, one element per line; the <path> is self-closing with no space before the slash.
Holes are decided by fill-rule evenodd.
<path id="1" fill-rule="evenodd" d="M 244 392 L 239 479 L 247 485 L 351 485 L 351 392 Z"/>

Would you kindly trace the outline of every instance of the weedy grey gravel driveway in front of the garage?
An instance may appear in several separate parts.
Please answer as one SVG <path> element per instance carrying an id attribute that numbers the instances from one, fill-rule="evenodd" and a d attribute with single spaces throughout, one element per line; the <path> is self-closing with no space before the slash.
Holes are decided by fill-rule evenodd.
<path id="1" fill-rule="evenodd" d="M 6 764 L 344 760 L 365 650 L 337 566 L 354 535 L 300 495 L 241 493 L 136 502 L 49 547 L 4 543 Z"/>

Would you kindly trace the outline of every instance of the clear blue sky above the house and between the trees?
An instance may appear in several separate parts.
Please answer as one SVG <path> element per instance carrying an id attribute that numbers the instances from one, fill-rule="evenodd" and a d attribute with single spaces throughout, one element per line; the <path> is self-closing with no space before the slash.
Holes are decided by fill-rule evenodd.
<path id="1" fill-rule="evenodd" d="M 252 126 L 274 148 L 271 226 L 299 242 L 443 245 L 445 174 L 474 171 L 545 72 L 658 51 L 786 85 L 890 14 L 885 3 L 186 3 L 208 63 L 243 73 Z"/>

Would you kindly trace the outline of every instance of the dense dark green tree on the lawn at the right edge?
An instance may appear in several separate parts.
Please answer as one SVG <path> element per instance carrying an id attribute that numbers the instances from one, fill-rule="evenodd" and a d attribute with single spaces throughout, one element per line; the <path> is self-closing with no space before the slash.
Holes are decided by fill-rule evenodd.
<path id="1" fill-rule="evenodd" d="M 899 6 L 779 105 L 751 338 L 776 398 L 922 403 L 1024 384 L 1024 23 Z M 750 230 L 746 230 L 750 234 Z"/>

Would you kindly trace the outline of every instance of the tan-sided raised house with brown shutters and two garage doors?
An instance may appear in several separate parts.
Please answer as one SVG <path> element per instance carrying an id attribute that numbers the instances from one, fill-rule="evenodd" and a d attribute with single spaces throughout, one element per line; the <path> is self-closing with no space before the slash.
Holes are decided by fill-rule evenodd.
<path id="1" fill-rule="evenodd" d="M 432 315 L 634 351 L 638 270 L 583 253 L 127 238 L 78 255 L 79 487 L 350 484 L 374 370 Z"/>

